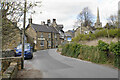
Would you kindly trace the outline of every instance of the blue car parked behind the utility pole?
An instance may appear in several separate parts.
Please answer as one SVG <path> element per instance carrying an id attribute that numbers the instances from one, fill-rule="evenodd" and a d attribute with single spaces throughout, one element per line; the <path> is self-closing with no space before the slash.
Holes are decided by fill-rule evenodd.
<path id="1" fill-rule="evenodd" d="M 15 56 L 22 56 L 22 44 L 18 45 L 15 49 Z M 24 46 L 24 58 L 32 59 L 33 58 L 33 49 L 29 43 L 25 43 Z"/>

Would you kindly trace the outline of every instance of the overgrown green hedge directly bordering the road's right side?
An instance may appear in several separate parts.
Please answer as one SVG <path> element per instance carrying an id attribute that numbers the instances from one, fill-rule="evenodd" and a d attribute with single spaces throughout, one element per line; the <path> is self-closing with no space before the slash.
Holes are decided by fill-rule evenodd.
<path id="1" fill-rule="evenodd" d="M 100 40 L 97 46 L 87 46 L 78 43 L 66 44 L 62 48 L 62 55 L 95 63 L 112 64 L 118 67 L 120 42 L 107 44 Z"/>

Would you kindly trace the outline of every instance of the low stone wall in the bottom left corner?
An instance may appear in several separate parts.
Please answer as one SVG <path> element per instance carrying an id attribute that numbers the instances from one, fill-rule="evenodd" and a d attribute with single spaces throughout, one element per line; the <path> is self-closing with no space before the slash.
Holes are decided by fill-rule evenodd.
<path id="1" fill-rule="evenodd" d="M 2 80 L 12 80 L 16 78 L 18 70 L 21 70 L 21 57 L 1 58 L 1 73 Z"/>

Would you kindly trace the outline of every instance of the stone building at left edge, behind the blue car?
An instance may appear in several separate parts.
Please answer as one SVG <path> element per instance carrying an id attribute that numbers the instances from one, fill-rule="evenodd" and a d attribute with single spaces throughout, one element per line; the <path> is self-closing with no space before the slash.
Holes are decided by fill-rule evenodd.
<path id="1" fill-rule="evenodd" d="M 8 19 L 2 19 L 2 49 L 14 50 L 21 43 L 21 30 L 17 27 L 16 22 Z"/>

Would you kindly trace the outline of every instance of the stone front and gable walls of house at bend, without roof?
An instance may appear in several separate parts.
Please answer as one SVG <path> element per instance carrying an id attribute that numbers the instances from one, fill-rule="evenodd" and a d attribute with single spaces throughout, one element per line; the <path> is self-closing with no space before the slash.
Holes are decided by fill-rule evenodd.
<path id="1" fill-rule="evenodd" d="M 43 34 L 43 38 L 41 37 L 41 34 Z M 27 42 L 33 44 L 34 40 L 36 40 L 36 44 L 35 44 L 36 50 L 57 48 L 58 45 L 61 44 L 60 34 L 56 34 L 57 36 L 56 38 L 55 38 L 55 34 L 56 33 L 51 33 L 51 32 L 35 32 L 34 29 L 30 26 L 26 30 Z M 44 46 L 41 46 L 42 41 L 44 41 Z"/>

